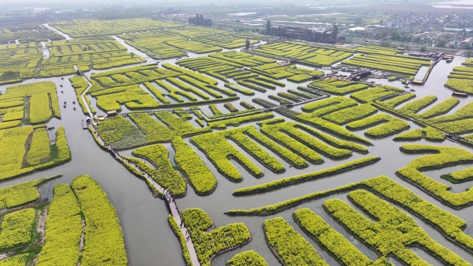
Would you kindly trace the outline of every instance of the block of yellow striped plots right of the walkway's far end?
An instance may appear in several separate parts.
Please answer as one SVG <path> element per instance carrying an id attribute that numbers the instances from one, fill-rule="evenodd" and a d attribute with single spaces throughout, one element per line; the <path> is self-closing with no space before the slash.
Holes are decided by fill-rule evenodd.
<path id="1" fill-rule="evenodd" d="M 171 64 L 163 67 L 138 66 L 93 74 L 89 92 L 98 100 L 107 99 L 110 104 L 98 102 L 104 111 L 120 110 L 119 104 L 125 103 L 127 108 L 140 109 L 236 99 L 236 93 L 216 86 L 211 77 Z"/>

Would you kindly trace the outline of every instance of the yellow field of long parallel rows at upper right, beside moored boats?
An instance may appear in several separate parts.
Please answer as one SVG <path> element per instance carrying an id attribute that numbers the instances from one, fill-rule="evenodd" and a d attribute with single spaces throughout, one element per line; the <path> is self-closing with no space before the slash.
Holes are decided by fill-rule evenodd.
<path id="1" fill-rule="evenodd" d="M 429 59 L 422 57 L 389 55 L 389 53 L 371 54 L 371 51 L 373 50 L 367 51 L 368 55 L 355 55 L 351 59 L 342 61 L 342 64 L 387 70 L 392 73 L 400 73 L 400 75 L 416 75 L 420 66 L 431 65 Z"/>

